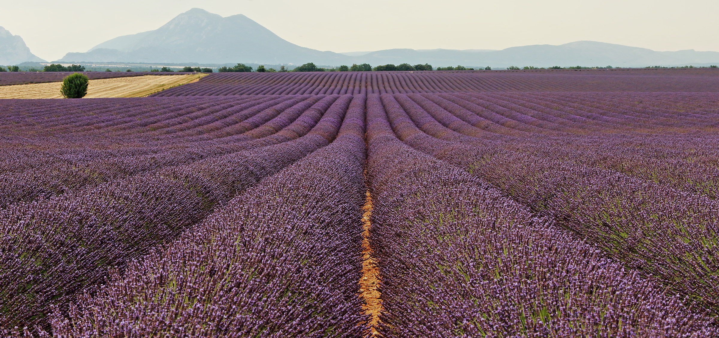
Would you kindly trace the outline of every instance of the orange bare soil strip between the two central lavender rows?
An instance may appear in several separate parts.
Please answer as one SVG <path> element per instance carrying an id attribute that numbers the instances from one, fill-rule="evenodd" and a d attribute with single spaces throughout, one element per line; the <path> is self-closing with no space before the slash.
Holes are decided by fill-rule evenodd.
<path id="1" fill-rule="evenodd" d="M 372 337 L 380 337 L 377 332 L 377 324 L 380 322 L 380 313 L 384 310 L 382 307 L 382 298 L 377 287 L 380 286 L 380 268 L 377 267 L 377 260 L 372 256 L 375 250 L 370 245 L 370 227 L 372 223 L 372 194 L 370 191 L 365 193 L 365 205 L 362 206 L 362 278 L 359 279 L 359 293 L 365 299 L 365 305 L 362 310 L 365 314 L 370 315 L 370 333 Z"/>

